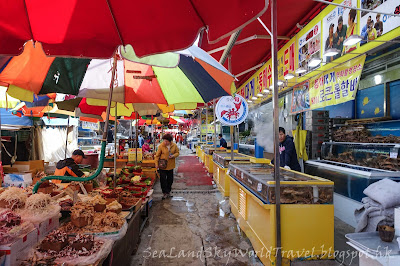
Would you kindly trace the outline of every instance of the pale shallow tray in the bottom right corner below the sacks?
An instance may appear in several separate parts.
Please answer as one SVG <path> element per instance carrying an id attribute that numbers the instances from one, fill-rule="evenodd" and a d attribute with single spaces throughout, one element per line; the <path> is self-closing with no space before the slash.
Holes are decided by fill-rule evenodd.
<path id="1" fill-rule="evenodd" d="M 345 236 L 350 243 L 372 256 L 400 255 L 396 236 L 392 242 L 382 241 L 378 232 L 351 233 Z"/>

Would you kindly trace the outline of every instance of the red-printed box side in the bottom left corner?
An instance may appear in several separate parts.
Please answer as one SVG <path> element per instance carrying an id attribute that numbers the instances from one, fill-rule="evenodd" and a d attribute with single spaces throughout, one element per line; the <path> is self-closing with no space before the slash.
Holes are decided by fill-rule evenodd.
<path id="1" fill-rule="evenodd" d="M 0 265 L 13 266 L 19 265 L 20 260 L 26 259 L 29 250 L 34 247 L 38 241 L 37 229 L 23 237 L 17 238 L 13 243 L 0 246 L 0 254 L 5 254 L 0 257 Z"/>

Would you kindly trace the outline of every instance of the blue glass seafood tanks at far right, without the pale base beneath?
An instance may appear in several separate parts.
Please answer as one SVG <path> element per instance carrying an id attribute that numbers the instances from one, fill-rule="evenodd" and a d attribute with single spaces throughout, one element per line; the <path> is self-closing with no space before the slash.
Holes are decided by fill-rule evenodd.
<path id="1" fill-rule="evenodd" d="M 325 142 L 321 159 L 305 162 L 305 172 L 332 180 L 336 193 L 360 202 L 370 184 L 383 178 L 400 181 L 400 144 L 375 143 L 374 138 L 382 137 L 361 136 L 374 143 Z M 387 142 L 397 140 L 384 138 Z"/>

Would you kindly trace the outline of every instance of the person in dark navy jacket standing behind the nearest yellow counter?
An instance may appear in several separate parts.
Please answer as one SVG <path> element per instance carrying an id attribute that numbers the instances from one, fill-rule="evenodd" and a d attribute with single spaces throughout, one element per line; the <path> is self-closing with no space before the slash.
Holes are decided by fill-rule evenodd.
<path id="1" fill-rule="evenodd" d="M 279 127 L 279 153 L 281 167 L 294 171 L 301 171 L 299 161 L 297 160 L 293 137 L 286 135 L 283 127 Z"/>

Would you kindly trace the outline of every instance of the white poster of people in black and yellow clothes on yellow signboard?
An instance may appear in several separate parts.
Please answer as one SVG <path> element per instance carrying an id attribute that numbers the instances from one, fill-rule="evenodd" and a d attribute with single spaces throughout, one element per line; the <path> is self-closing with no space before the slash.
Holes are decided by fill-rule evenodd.
<path id="1" fill-rule="evenodd" d="M 323 19 L 322 54 L 328 49 L 339 51 L 335 56 L 324 56 L 327 63 L 357 48 L 357 45 L 343 45 L 350 35 L 357 34 L 357 10 L 351 8 L 357 8 L 357 0 L 344 0 L 341 4 L 349 8 L 336 7 Z"/>

